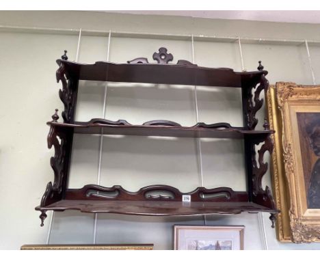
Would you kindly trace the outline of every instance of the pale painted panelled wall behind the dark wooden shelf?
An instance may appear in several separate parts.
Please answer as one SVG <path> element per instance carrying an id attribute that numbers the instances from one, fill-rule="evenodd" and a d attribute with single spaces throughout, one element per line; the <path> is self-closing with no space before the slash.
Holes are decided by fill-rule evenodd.
<path id="1" fill-rule="evenodd" d="M 133 16 L 94 12 L 0 12 L 0 25 L 36 26 L 144 33 L 206 33 L 211 36 L 250 36 L 254 38 L 318 37 L 319 25 L 206 20 L 198 18 Z M 234 26 L 237 25 L 237 26 Z M 263 31 L 261 31 L 263 29 Z M 318 39 L 319 40 L 319 39 Z M 27 33 L 8 29 L 0 32 L 0 247 L 18 249 L 23 244 L 46 243 L 49 217 L 40 228 L 40 203 L 46 183 L 53 180 L 49 166 L 52 150 L 46 148 L 46 135 L 54 109 L 62 111 L 55 83 L 55 59 L 68 50 L 75 60 L 76 33 Z M 148 57 L 165 46 L 178 59 L 192 61 L 191 38 L 123 38 L 82 36 L 79 61 L 93 63 L 107 59 L 126 62 Z M 295 81 L 312 84 L 305 46 L 243 43 L 247 70 L 256 70 L 261 59 L 270 83 Z M 316 81 L 320 81 L 320 49 L 310 46 Z M 194 42 L 195 63 L 200 66 L 230 67 L 241 70 L 237 42 Z M 105 83 L 81 81 L 77 120 L 103 117 Z M 227 121 L 241 126 L 239 90 L 197 87 L 200 122 Z M 105 118 L 125 119 L 133 124 L 165 119 L 185 126 L 196 123 L 194 87 L 107 83 Z M 264 118 L 263 109 L 259 118 Z M 259 124 L 261 127 L 261 122 Z M 96 183 L 99 136 L 75 135 L 69 187 Z M 204 187 L 227 186 L 245 189 L 243 144 L 235 140 L 202 139 Z M 121 184 L 136 191 L 149 184 L 170 184 L 181 191 L 200 186 L 200 161 L 194 139 L 154 137 L 104 137 L 101 185 Z M 268 160 L 268 159 L 267 159 Z M 172 171 L 172 169 L 174 171 Z M 263 180 L 270 186 L 269 173 Z M 155 249 L 172 249 L 172 225 L 203 224 L 202 217 L 138 217 L 98 215 L 96 243 L 154 243 Z M 264 223 L 264 224 L 263 224 Z M 208 225 L 245 225 L 245 249 L 320 249 L 320 244 L 279 243 L 271 229 L 269 215 L 243 213 L 213 216 Z M 263 225 L 265 232 L 263 233 Z M 265 236 L 265 237 L 264 237 Z M 56 212 L 49 243 L 92 243 L 94 215 L 77 211 Z"/>

